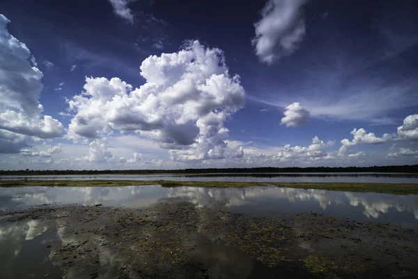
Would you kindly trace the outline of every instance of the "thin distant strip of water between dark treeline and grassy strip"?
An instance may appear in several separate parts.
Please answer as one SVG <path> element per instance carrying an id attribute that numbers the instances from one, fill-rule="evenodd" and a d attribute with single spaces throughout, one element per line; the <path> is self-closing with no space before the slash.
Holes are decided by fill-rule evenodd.
<path id="1" fill-rule="evenodd" d="M 240 173 L 240 174 L 95 174 L 0 176 L 0 180 L 171 180 L 171 181 L 243 181 L 243 182 L 359 182 L 418 183 L 418 174 L 403 173 Z"/>

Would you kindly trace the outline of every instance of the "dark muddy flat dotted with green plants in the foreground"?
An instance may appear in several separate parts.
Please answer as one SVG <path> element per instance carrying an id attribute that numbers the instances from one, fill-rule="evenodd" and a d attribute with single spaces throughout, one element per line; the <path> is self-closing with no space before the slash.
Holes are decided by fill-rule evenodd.
<path id="1" fill-rule="evenodd" d="M 6 227 L 29 220 L 54 235 L 42 250 L 61 278 L 412 278 L 418 272 L 417 231 L 310 212 L 258 218 L 167 202 L 0 212 Z"/>

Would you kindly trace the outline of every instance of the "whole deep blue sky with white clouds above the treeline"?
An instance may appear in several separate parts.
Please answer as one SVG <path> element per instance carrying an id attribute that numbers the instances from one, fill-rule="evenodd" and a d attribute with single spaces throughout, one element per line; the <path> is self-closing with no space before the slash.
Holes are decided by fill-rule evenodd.
<path id="1" fill-rule="evenodd" d="M 418 3 L 0 3 L 0 169 L 418 163 Z"/>

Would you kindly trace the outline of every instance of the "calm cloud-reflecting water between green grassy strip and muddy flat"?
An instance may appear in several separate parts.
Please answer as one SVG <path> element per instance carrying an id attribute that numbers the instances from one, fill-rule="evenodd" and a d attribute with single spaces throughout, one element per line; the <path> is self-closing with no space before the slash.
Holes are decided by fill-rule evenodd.
<path id="1" fill-rule="evenodd" d="M 144 207 L 158 201 L 276 216 L 314 211 L 352 220 L 391 222 L 418 228 L 418 195 L 350 193 L 295 188 L 162 188 L 161 186 L 0 188 L 0 209 L 40 204 L 103 204 Z"/>

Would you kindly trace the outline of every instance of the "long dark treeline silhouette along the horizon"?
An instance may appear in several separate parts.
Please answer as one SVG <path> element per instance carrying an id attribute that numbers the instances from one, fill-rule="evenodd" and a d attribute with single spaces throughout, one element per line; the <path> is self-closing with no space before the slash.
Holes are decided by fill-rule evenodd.
<path id="1" fill-rule="evenodd" d="M 0 170 L 0 175 L 63 175 L 63 174 L 231 174 L 281 172 L 409 172 L 418 173 L 418 165 L 392 165 L 373 167 L 245 167 L 228 169 L 103 169 L 103 170 Z"/>

